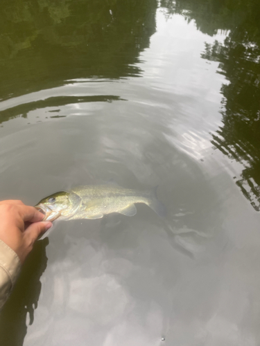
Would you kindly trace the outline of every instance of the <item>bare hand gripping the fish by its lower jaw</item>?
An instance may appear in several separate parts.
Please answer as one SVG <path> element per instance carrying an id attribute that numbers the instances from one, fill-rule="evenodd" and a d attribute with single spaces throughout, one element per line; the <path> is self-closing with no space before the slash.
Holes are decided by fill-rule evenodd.
<path id="1" fill-rule="evenodd" d="M 51 228 L 44 215 L 21 201 L 0 202 L 0 239 L 17 253 L 21 263 L 33 249 L 38 237 Z"/>

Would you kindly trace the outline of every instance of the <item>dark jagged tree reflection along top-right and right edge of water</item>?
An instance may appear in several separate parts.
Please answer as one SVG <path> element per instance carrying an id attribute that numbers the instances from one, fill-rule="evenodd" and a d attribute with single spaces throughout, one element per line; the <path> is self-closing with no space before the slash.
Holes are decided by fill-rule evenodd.
<path id="1" fill-rule="evenodd" d="M 214 35 L 230 30 L 224 44 L 205 44 L 202 58 L 220 62 L 225 75 L 222 107 L 223 126 L 212 143 L 223 154 L 243 164 L 236 179 L 244 196 L 260 210 L 260 3 L 200 0 L 162 1 L 166 13 L 181 13 L 195 19 L 199 30 Z"/>

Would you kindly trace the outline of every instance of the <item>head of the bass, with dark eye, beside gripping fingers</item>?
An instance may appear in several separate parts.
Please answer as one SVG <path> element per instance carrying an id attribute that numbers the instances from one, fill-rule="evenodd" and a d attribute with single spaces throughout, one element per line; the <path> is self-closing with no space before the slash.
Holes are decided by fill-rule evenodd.
<path id="1" fill-rule="evenodd" d="M 42 199 L 35 208 L 42 212 L 43 221 L 69 219 L 80 206 L 80 197 L 73 192 L 60 191 Z"/>

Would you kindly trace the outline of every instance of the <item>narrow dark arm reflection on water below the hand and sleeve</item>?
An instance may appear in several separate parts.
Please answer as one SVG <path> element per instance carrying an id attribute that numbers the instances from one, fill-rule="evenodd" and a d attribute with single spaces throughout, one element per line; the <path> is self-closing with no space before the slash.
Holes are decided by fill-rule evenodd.
<path id="1" fill-rule="evenodd" d="M 26 336 L 26 316 L 33 323 L 41 292 L 40 277 L 47 266 L 46 246 L 48 238 L 36 242 L 28 255 L 10 298 L 0 313 L 0 345 L 20 346 Z"/>

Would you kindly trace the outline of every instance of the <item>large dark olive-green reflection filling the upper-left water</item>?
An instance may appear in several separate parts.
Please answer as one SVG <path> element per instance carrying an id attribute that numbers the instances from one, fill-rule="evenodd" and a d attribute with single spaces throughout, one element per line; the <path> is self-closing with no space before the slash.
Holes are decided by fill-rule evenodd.
<path id="1" fill-rule="evenodd" d="M 1 100 L 75 78 L 138 76 L 156 8 L 156 0 L 2 1 Z"/>

